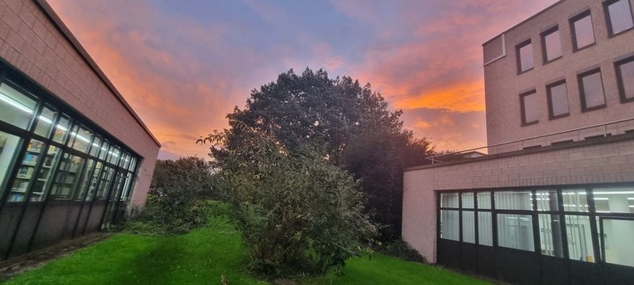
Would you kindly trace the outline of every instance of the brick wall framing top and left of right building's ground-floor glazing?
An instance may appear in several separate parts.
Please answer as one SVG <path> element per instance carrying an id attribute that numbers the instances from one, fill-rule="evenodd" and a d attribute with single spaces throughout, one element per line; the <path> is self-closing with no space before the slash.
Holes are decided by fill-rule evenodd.
<path id="1" fill-rule="evenodd" d="M 436 261 L 434 190 L 634 182 L 634 135 L 627 140 L 475 158 L 404 173 L 403 239 Z M 579 143 L 577 143 L 579 144 Z"/>

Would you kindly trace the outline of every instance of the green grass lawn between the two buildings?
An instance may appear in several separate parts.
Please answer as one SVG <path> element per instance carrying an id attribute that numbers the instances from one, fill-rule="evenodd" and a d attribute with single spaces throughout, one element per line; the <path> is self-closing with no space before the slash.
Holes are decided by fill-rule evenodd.
<path id="1" fill-rule="evenodd" d="M 114 235 L 106 241 L 22 273 L 3 284 L 268 284 L 244 270 L 248 251 L 224 218 L 186 235 Z M 343 276 L 300 284 L 487 284 L 486 281 L 376 254 L 348 260 Z"/>

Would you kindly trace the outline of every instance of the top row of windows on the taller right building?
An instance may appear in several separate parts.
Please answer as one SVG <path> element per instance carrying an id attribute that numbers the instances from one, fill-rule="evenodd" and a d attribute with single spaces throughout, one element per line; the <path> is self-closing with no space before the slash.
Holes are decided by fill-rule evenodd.
<path id="1" fill-rule="evenodd" d="M 607 28 L 610 36 L 619 35 L 634 27 L 634 19 L 629 0 L 609 0 L 604 3 Z M 582 50 L 595 43 L 592 15 L 590 10 L 582 12 L 569 20 L 573 50 Z M 552 27 L 541 35 L 544 64 L 562 57 L 559 26 Z M 521 42 L 515 47 L 518 73 L 525 73 L 534 67 L 531 40 Z"/>

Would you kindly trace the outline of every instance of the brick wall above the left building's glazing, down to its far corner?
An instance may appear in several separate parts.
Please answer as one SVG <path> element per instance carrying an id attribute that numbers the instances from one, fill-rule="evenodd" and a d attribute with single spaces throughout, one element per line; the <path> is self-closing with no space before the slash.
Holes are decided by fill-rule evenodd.
<path id="1" fill-rule="evenodd" d="M 143 158 L 131 204 L 145 204 L 158 144 L 34 1 L 0 0 L 0 58 Z"/>

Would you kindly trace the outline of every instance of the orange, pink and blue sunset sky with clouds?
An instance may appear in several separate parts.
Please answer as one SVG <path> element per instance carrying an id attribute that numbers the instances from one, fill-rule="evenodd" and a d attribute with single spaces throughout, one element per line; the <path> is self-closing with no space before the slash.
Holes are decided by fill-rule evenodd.
<path id="1" fill-rule="evenodd" d="M 481 44 L 556 0 L 48 0 L 149 127 L 161 159 L 279 73 L 369 82 L 435 150 L 486 145 Z"/>

